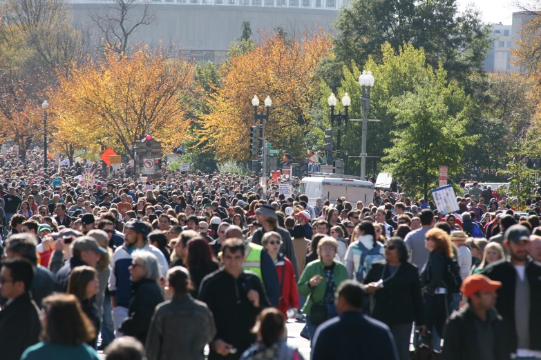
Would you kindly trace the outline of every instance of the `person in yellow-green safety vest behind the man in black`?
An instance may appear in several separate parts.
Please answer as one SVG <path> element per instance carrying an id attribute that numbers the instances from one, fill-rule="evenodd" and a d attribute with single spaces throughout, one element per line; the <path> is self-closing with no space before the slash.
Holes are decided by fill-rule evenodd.
<path id="1" fill-rule="evenodd" d="M 274 267 L 274 261 L 272 261 L 267 250 L 265 250 L 263 246 L 246 241 L 243 236 L 243 230 L 238 226 L 229 226 L 225 232 L 225 237 L 227 239 L 243 239 L 245 242 L 244 253 L 246 257 L 243 268 L 254 272 L 254 274 L 258 276 L 263 283 L 263 288 L 265 288 L 265 293 L 267 294 L 270 303 L 275 308 L 278 308 L 278 303 L 280 301 L 278 273 Z M 218 258 L 220 257 L 221 254 Z"/>

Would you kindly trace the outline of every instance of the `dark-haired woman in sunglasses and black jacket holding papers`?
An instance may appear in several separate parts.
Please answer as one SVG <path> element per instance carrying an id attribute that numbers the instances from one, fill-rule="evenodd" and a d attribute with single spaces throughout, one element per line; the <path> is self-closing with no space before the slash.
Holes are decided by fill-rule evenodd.
<path id="1" fill-rule="evenodd" d="M 375 261 L 364 283 L 374 293 L 372 317 L 385 323 L 395 337 L 400 360 L 410 359 L 412 323 L 425 332 L 423 299 L 417 266 L 408 263 L 404 240 L 391 237 L 385 248 L 385 260 Z M 397 301 L 397 299 L 400 299 Z"/>

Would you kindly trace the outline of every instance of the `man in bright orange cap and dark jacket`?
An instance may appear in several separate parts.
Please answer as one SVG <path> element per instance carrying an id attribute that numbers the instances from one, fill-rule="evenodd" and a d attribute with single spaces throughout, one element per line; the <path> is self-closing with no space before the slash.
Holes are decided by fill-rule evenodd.
<path id="1" fill-rule="evenodd" d="M 468 298 L 453 312 L 444 330 L 442 360 L 509 360 L 505 325 L 494 309 L 500 281 L 477 274 L 462 281 L 460 292 Z"/>

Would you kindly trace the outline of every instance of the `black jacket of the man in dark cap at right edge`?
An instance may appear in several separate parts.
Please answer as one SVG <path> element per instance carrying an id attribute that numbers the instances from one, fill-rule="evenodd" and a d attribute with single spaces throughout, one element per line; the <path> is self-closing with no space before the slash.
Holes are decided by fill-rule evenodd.
<path id="1" fill-rule="evenodd" d="M 517 332 L 515 328 L 515 286 L 517 272 L 509 257 L 491 263 L 484 274 L 502 287 L 497 290 L 496 309 L 504 318 L 509 339 L 509 352 L 517 351 Z M 541 264 L 531 259 L 526 263 L 526 277 L 530 286 L 530 350 L 541 350 Z"/>

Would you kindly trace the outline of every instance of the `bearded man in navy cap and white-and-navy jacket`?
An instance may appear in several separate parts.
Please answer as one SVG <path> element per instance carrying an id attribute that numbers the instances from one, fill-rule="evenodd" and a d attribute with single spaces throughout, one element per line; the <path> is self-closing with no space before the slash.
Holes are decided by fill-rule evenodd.
<path id="1" fill-rule="evenodd" d="M 118 327 L 128 317 L 128 308 L 131 298 L 130 270 L 131 254 L 141 249 L 152 252 L 160 263 L 160 273 L 167 272 L 167 260 L 160 249 L 149 244 L 148 235 L 151 226 L 140 220 L 132 220 L 124 226 L 126 231 L 124 245 L 115 250 L 111 261 L 111 276 L 109 277 L 109 290 L 111 291 L 111 306 L 113 307 L 113 323 L 116 337 L 121 336 Z"/>

